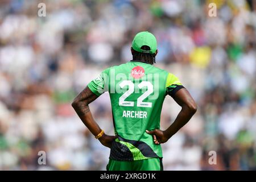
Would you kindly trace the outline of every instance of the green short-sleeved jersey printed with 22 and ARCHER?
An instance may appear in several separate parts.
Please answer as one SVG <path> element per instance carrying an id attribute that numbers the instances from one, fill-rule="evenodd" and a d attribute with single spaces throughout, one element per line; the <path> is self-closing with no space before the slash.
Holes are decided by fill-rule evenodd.
<path id="1" fill-rule="evenodd" d="M 100 96 L 109 92 L 115 135 L 110 159 L 162 158 L 162 149 L 146 130 L 160 128 L 164 98 L 184 88 L 163 69 L 139 61 L 105 69 L 88 87 Z"/>

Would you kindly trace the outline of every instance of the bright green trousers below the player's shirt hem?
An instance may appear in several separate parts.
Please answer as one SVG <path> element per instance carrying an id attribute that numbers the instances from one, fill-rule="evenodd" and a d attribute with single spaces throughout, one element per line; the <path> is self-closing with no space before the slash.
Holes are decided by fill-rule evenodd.
<path id="1" fill-rule="evenodd" d="M 162 158 L 151 158 L 134 161 L 109 159 L 108 171 L 163 171 Z"/>

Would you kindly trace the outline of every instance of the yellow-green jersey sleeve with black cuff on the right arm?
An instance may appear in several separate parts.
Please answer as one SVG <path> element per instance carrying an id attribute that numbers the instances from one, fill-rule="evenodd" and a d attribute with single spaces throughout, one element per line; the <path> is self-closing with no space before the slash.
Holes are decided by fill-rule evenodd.
<path id="1" fill-rule="evenodd" d="M 174 74 L 169 73 L 166 79 L 166 95 L 168 94 L 171 97 L 175 96 L 175 93 L 184 88 L 181 84 L 179 78 L 177 78 Z"/>

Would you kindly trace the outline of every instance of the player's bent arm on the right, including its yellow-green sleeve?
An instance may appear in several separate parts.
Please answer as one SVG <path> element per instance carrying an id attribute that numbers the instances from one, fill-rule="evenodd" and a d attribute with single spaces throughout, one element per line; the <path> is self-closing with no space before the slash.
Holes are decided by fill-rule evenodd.
<path id="1" fill-rule="evenodd" d="M 155 144 L 167 142 L 177 131 L 181 129 L 196 113 L 197 105 L 193 100 L 191 94 L 184 86 L 181 85 L 180 81 L 176 76 L 171 75 L 170 80 L 167 83 L 167 93 L 174 98 L 174 100 L 181 106 L 181 110 L 177 115 L 175 121 L 168 127 L 167 130 L 155 129 L 152 131 L 146 131 L 151 134 L 154 138 Z"/>

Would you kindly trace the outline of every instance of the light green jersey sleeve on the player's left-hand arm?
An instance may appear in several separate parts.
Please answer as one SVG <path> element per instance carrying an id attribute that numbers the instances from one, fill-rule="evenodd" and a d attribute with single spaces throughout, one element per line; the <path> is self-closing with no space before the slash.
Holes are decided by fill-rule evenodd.
<path id="1" fill-rule="evenodd" d="M 108 72 L 109 68 L 105 69 L 97 78 L 89 82 L 87 85 L 88 88 L 97 96 L 108 91 Z"/>

